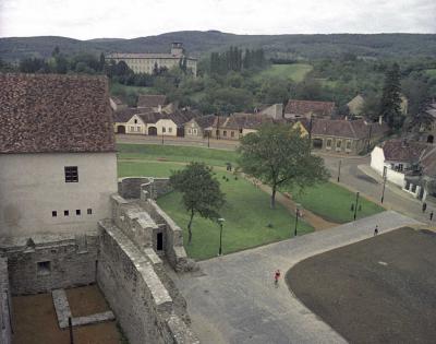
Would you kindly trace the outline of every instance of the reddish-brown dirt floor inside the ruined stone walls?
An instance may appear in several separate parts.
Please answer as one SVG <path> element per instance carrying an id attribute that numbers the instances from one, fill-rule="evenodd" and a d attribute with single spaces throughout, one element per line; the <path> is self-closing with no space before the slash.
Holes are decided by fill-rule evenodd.
<path id="1" fill-rule="evenodd" d="M 66 290 L 74 317 L 109 310 L 98 287 Z M 69 330 L 60 330 L 51 294 L 16 296 L 13 304 L 13 344 L 70 344 Z M 75 344 L 119 344 L 116 321 L 74 328 Z"/>

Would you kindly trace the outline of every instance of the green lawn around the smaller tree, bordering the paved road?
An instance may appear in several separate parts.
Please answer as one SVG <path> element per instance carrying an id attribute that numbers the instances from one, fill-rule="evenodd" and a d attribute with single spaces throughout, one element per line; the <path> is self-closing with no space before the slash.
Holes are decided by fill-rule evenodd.
<path id="1" fill-rule="evenodd" d="M 226 205 L 221 216 L 226 218 L 222 232 L 222 253 L 283 240 L 293 236 L 294 217 L 282 205 L 269 209 L 269 197 L 244 179 L 234 179 L 232 174 L 217 173 L 221 190 L 226 193 Z M 222 176 L 229 178 L 225 181 Z M 216 257 L 219 247 L 219 226 L 199 216 L 194 217 L 193 239 L 187 245 L 189 214 L 183 207 L 181 194 L 171 192 L 157 203 L 183 228 L 185 249 L 190 257 L 203 260 Z M 271 224 L 271 227 L 268 227 Z M 304 222 L 299 222 L 299 234 L 313 232 Z"/>

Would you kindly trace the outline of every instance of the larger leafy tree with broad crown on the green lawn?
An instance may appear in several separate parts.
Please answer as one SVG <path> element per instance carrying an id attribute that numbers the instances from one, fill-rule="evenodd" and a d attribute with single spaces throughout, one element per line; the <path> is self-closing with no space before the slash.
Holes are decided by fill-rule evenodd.
<path id="1" fill-rule="evenodd" d="M 329 177 L 323 158 L 311 154 L 307 139 L 291 124 L 263 124 L 241 139 L 239 152 L 243 171 L 271 186 L 272 209 L 278 187 L 302 190 Z"/>

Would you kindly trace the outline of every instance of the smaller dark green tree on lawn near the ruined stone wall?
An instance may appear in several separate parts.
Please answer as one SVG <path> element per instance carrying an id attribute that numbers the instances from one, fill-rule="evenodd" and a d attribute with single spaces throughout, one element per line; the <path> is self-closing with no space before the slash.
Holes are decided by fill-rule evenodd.
<path id="1" fill-rule="evenodd" d="M 218 220 L 225 194 L 219 188 L 219 181 L 213 176 L 211 167 L 204 163 L 192 162 L 182 170 L 173 171 L 170 185 L 183 194 L 184 207 L 190 213 L 187 244 L 191 244 L 194 215 L 198 213 L 204 218 Z"/>

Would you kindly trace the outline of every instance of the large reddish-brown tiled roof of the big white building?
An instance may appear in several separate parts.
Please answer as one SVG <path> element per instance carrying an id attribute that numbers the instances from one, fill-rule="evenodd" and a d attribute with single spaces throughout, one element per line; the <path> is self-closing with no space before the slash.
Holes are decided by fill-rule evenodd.
<path id="1" fill-rule="evenodd" d="M 0 73 L 0 153 L 114 149 L 106 76 Z"/>

